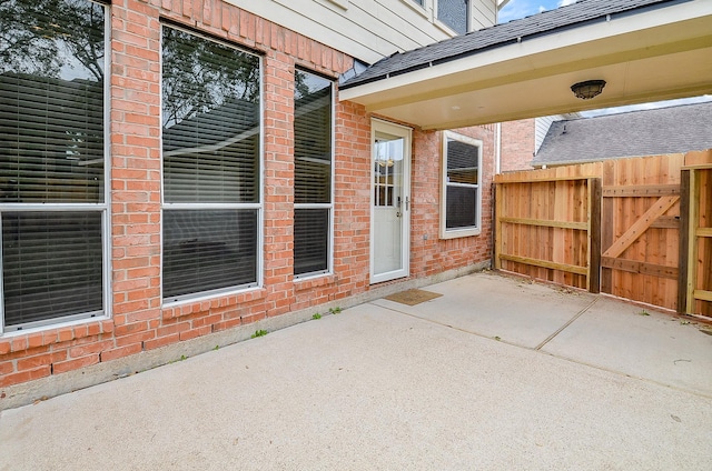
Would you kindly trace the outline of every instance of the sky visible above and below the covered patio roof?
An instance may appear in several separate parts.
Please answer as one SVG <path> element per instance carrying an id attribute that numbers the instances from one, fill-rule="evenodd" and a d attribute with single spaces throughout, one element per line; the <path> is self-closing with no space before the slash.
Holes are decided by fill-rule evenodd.
<path id="1" fill-rule="evenodd" d="M 510 0 L 510 2 L 502 9 L 502 11 L 500 11 L 500 22 L 506 23 L 507 21 L 541 13 L 542 11 L 554 10 L 558 7 L 565 7 L 575 2 L 576 0 Z M 605 108 L 601 110 L 584 111 L 581 114 L 584 117 L 595 117 L 636 110 L 652 110 L 655 108 L 672 107 L 679 104 L 701 103 L 705 101 L 712 101 L 712 96 L 685 98 L 680 100 L 656 101 L 653 103 L 633 104 L 627 107 Z"/>

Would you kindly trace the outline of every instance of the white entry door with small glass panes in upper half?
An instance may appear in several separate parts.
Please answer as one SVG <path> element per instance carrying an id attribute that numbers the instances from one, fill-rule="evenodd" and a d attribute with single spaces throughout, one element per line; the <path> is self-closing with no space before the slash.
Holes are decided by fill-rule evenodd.
<path id="1" fill-rule="evenodd" d="M 411 129 L 372 121 L 370 282 L 409 274 Z"/>

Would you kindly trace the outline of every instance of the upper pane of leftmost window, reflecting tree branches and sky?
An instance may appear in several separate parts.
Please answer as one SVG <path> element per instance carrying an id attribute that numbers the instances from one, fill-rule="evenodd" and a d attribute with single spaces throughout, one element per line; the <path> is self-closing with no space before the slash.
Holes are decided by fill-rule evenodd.
<path id="1" fill-rule="evenodd" d="M 0 202 L 103 201 L 105 7 L 0 2 Z"/>

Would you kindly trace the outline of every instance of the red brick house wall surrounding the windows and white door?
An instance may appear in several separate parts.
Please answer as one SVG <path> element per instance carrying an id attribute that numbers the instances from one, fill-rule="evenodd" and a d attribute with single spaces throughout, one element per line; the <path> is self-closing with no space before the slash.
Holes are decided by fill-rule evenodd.
<path id="1" fill-rule="evenodd" d="M 112 318 L 0 338 L 0 388 L 369 290 L 370 117 L 349 102 L 336 108 L 334 273 L 291 274 L 295 66 L 336 78 L 352 58 L 220 0 L 115 0 L 110 11 Z M 263 288 L 169 308 L 160 298 L 160 18 L 264 54 Z M 439 133 L 415 131 L 414 278 L 490 259 L 493 130 L 463 133 L 485 141 L 482 236 L 438 240 Z"/>

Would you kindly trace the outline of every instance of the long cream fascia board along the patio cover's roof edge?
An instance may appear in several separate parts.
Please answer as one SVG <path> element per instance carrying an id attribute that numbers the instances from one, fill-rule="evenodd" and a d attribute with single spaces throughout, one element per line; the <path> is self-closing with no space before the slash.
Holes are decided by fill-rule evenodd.
<path id="1" fill-rule="evenodd" d="M 483 69 L 516 59 L 523 61 L 523 70 L 536 69 L 525 59 L 526 57 L 704 17 L 709 17 L 712 23 L 712 1 L 710 0 L 695 0 L 643 13 L 627 14 L 623 18 L 613 16 L 612 19 L 606 22 L 597 21 L 594 24 L 565 29 L 561 32 L 552 31 L 551 33 L 532 39 L 523 37 L 522 42 L 518 43 L 496 47 L 483 52 L 475 51 L 472 56 L 463 59 L 355 86 L 346 90 L 340 90 L 339 99 L 367 103 L 372 101 L 368 99 L 369 96 L 375 97 L 402 87 L 433 81 L 449 74 Z M 661 42 L 664 42 L 664 40 L 661 40 Z M 624 43 L 621 46 L 622 48 L 626 47 Z"/>

